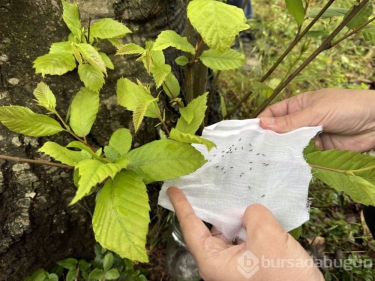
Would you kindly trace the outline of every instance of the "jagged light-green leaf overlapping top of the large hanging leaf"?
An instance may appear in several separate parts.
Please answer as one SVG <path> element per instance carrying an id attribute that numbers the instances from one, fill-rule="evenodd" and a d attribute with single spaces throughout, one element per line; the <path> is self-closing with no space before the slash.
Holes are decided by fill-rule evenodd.
<path id="1" fill-rule="evenodd" d="M 96 159 L 87 159 L 77 163 L 75 168 L 78 169 L 79 175 L 78 189 L 69 205 L 86 196 L 91 187 L 97 183 L 102 182 L 107 177 L 113 178 L 121 170 L 122 166 L 115 163 L 103 163 Z"/>

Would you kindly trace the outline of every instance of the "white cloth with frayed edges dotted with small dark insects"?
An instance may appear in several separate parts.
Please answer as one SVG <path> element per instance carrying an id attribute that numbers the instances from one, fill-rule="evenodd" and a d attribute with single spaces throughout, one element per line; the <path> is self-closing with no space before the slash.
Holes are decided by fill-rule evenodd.
<path id="1" fill-rule="evenodd" d="M 177 186 L 196 215 L 229 239 L 246 239 L 242 216 L 253 203 L 266 206 L 286 231 L 296 228 L 309 218 L 311 168 L 302 151 L 321 129 L 302 127 L 276 133 L 261 128 L 259 119 L 210 125 L 202 137 L 217 147 L 207 152 L 203 145 L 194 144 L 207 162 L 188 175 L 165 180 L 158 204 L 173 210 L 166 189 Z"/>

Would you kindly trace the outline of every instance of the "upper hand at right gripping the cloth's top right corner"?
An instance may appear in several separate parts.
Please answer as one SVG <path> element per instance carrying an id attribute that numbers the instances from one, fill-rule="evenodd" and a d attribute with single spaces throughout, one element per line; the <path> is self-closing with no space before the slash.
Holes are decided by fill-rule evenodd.
<path id="1" fill-rule="evenodd" d="M 375 147 L 375 91 L 326 88 L 279 101 L 258 115 L 260 126 L 287 132 L 323 125 L 320 149 L 367 151 Z"/>

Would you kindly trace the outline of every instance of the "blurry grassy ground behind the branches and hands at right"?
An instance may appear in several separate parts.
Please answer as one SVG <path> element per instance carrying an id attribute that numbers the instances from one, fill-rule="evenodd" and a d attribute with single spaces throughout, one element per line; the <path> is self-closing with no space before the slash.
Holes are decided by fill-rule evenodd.
<path id="1" fill-rule="evenodd" d="M 324 4 L 320 1 L 309 2 L 309 10 Z M 297 27 L 285 12 L 284 1 L 254 1 L 252 4 L 254 19 L 250 25 L 256 40 L 239 44 L 247 65 L 220 74 L 219 86 L 226 106 L 224 111 L 252 91 L 231 118 L 248 118 L 277 84 L 321 43 L 319 37 L 302 39 L 263 83 L 257 82 L 293 40 Z M 334 6 L 339 7 L 348 8 L 350 5 L 349 0 L 334 2 Z M 320 20 L 313 29 L 330 32 L 341 19 Z M 346 30 L 337 37 L 344 32 Z M 365 41 L 360 34 L 355 34 L 319 54 L 273 102 L 325 87 L 373 88 L 374 52 L 374 45 Z M 310 254 L 315 258 L 326 256 L 330 259 L 356 259 L 356 262 L 369 258 L 375 261 L 375 241 L 364 223 L 360 204 L 316 180 L 310 185 L 309 197 L 310 220 L 302 226 L 299 242 Z M 326 280 L 375 279 L 375 271 L 363 266 L 351 270 L 330 266 L 323 268 L 323 273 Z"/>

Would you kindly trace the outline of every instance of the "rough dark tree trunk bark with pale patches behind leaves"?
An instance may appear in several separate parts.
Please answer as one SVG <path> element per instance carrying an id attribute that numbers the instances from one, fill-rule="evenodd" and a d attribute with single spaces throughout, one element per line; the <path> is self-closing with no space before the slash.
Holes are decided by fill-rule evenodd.
<path id="1" fill-rule="evenodd" d="M 184 8 L 179 0 L 75 1 L 84 25 L 89 17 L 92 22 L 103 17 L 122 21 L 133 31 L 125 41 L 144 44 L 163 29 L 180 32 L 184 24 Z M 149 14 L 155 5 L 156 14 Z M 1 105 L 19 104 L 40 110 L 31 102 L 33 89 L 42 80 L 34 74 L 32 61 L 46 53 L 52 42 L 67 38 L 61 14 L 59 0 L 0 0 Z M 132 129 L 131 114 L 116 103 L 117 78 L 139 77 L 142 82 L 150 82 L 133 57 L 114 56 L 114 48 L 109 45 L 103 50 L 112 58 L 115 70 L 109 72 L 100 92 L 98 117 L 89 135 L 89 142 L 96 147 L 105 145 L 116 128 Z M 173 56 L 174 52 L 168 60 Z M 45 81 L 56 95 L 57 110 L 65 115 L 72 94 L 81 86 L 77 74 L 47 75 Z M 154 125 L 153 120 L 143 122 L 133 145 L 157 138 Z M 65 144 L 70 140 L 66 135 L 25 137 L 0 125 L 1 154 L 40 158 L 43 155 L 37 152 L 38 147 L 50 139 Z M 77 204 L 67 206 L 74 191 L 71 170 L 0 161 L 0 281 L 21 280 L 37 268 L 50 269 L 68 256 L 91 256 L 94 238 L 90 217 Z M 92 209 L 92 198 L 88 204 Z"/>

